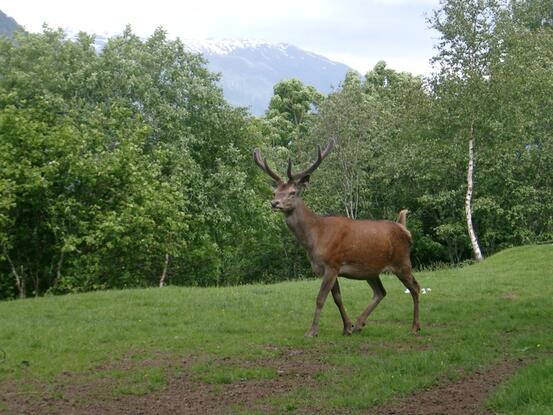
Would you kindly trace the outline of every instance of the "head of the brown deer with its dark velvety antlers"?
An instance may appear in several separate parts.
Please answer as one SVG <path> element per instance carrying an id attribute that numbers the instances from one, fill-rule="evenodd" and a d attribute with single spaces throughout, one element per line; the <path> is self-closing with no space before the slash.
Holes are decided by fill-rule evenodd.
<path id="1" fill-rule="evenodd" d="M 273 211 L 281 211 L 291 213 L 297 206 L 300 200 L 301 193 L 309 182 L 311 174 L 315 171 L 323 159 L 330 153 L 334 146 L 334 139 L 331 139 L 325 149 L 321 151 L 321 147 L 317 146 L 317 160 L 307 169 L 300 173 L 292 173 L 292 160 L 288 159 L 288 181 L 284 182 L 278 174 L 276 174 L 269 165 L 267 159 L 261 158 L 261 151 L 256 148 L 253 153 L 253 159 L 261 170 L 263 170 L 274 181 L 273 200 L 271 208 Z"/>

